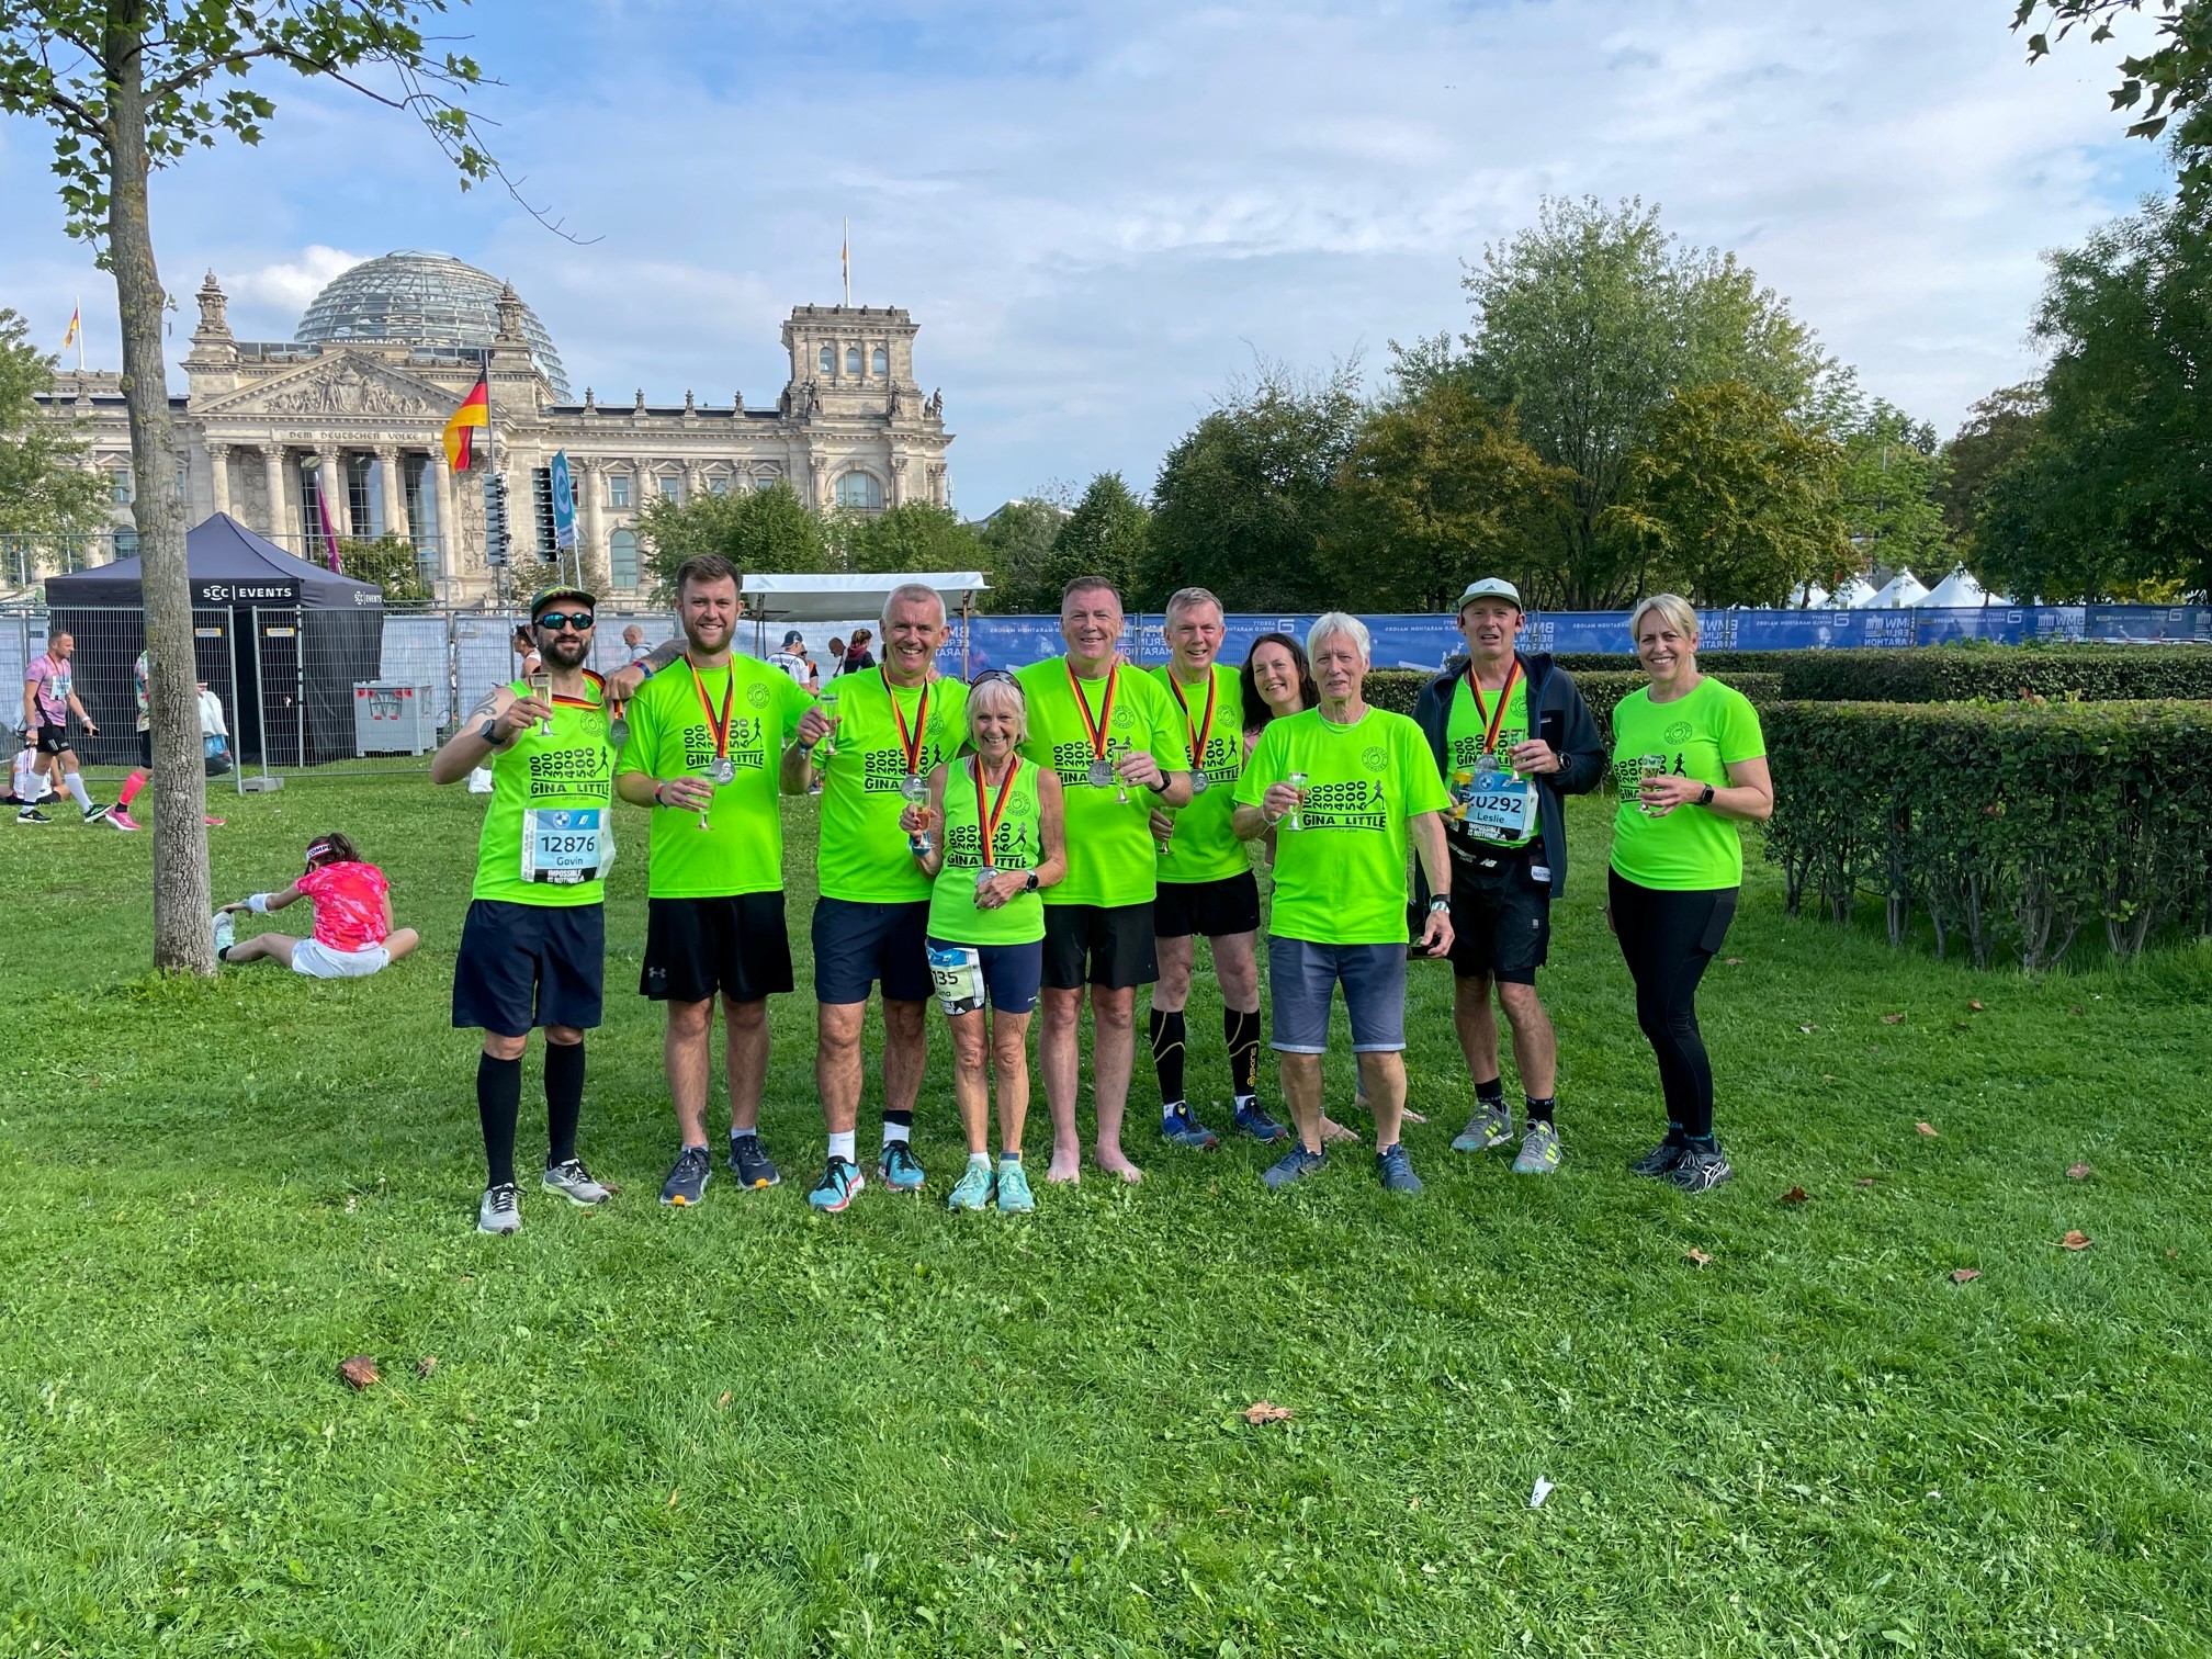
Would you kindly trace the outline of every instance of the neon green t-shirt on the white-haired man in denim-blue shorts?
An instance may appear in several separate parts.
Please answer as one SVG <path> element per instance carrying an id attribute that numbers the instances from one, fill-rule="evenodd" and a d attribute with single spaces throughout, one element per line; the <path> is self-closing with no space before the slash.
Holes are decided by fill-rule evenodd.
<path id="1" fill-rule="evenodd" d="M 1405 825 L 1451 801 L 1429 739 L 1387 708 L 1352 726 L 1307 708 L 1267 721 L 1237 799 L 1256 807 L 1294 772 L 1305 774 L 1305 805 L 1298 830 L 1287 816 L 1276 825 L 1267 931 L 1314 945 L 1405 945 Z"/>

